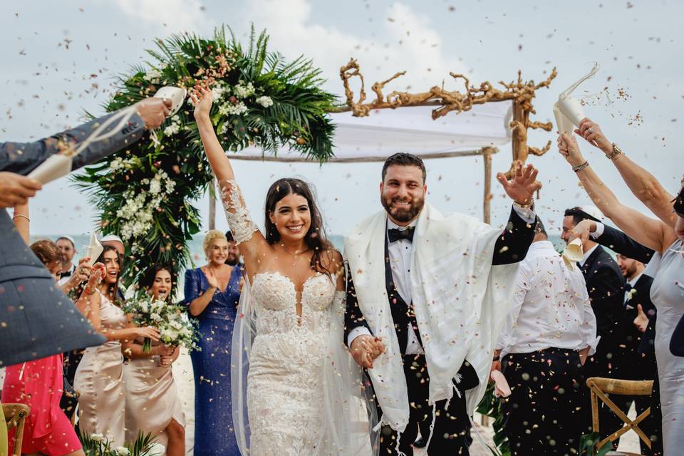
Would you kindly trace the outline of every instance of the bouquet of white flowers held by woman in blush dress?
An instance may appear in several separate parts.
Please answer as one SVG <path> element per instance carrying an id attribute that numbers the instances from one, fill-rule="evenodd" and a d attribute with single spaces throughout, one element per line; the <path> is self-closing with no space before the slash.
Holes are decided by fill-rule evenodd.
<path id="1" fill-rule="evenodd" d="M 197 346 L 197 323 L 187 318 L 185 308 L 167 303 L 162 299 L 131 299 L 123 306 L 138 326 L 153 326 L 159 330 L 160 341 L 166 345 L 184 345 L 188 350 L 199 350 Z M 152 341 L 145 338 L 142 351 L 152 351 Z"/>

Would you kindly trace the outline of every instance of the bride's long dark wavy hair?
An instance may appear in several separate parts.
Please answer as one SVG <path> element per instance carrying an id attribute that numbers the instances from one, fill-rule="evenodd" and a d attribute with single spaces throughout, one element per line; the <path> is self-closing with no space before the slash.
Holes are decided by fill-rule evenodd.
<path id="1" fill-rule="evenodd" d="M 323 229 L 323 217 L 321 217 L 321 211 L 318 210 L 314 191 L 311 190 L 309 184 L 301 179 L 285 178 L 276 180 L 276 182 L 271 184 L 269 192 L 266 193 L 266 206 L 264 208 L 266 212 L 266 222 L 264 224 L 266 227 L 266 242 L 269 244 L 279 242 L 280 233 L 276 225 L 271 222 L 271 214 L 275 212 L 277 202 L 290 194 L 304 197 L 307 204 L 309 204 L 311 226 L 304 236 L 304 244 L 306 244 L 309 250 L 314 252 L 314 256 L 311 257 L 311 269 L 332 274 L 335 271 L 330 271 L 328 267 L 321 265 L 321 254 L 333 249 L 333 244 L 328 241 L 325 229 Z"/>

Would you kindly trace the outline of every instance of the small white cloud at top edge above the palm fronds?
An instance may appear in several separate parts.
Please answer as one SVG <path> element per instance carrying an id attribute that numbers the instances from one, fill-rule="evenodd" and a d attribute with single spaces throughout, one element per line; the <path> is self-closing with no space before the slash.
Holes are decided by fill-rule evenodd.
<path id="1" fill-rule="evenodd" d="M 124 14 L 164 28 L 167 32 L 206 33 L 214 21 L 204 14 L 199 0 L 115 0 Z M 209 31 L 211 28 L 208 28 Z"/>

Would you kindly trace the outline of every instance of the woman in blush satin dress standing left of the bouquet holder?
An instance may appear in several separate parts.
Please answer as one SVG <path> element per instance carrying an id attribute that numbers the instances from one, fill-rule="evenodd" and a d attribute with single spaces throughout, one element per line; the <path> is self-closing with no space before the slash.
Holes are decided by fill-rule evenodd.
<path id="1" fill-rule="evenodd" d="M 112 246 L 103 246 L 98 261 L 106 268 L 105 277 L 90 291 L 83 314 L 108 340 L 98 347 L 88 347 L 78 364 L 73 387 L 78 398 L 78 426 L 88 434 L 104 435 L 113 447 L 125 442 L 126 390 L 123 383 L 122 341 L 148 337 L 159 340 L 156 328 L 137 328 L 117 304 L 121 259 Z"/>

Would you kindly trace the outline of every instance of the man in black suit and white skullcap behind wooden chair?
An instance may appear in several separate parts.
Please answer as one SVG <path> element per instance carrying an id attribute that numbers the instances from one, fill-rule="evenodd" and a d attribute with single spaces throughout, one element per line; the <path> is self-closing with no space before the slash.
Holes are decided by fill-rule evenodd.
<path id="1" fill-rule="evenodd" d="M 561 239 L 570 241 L 571 234 L 577 224 L 583 220 L 600 222 L 601 212 L 596 207 L 584 206 L 566 209 L 563 217 Z M 619 351 L 619 340 L 616 336 L 618 323 L 622 318 L 625 299 L 625 279 L 618 264 L 603 247 L 589 238 L 582 239 L 584 258 L 578 265 L 584 274 L 586 289 L 591 301 L 591 309 L 596 316 L 596 335 L 601 337 L 594 356 L 584 364 L 586 378 L 615 378 L 613 354 Z M 589 394 L 587 394 L 589 401 Z M 586 428 L 591 432 L 591 406 L 587 404 Z M 607 407 L 601 407 L 602 430 L 614 432 L 621 420 Z"/>

